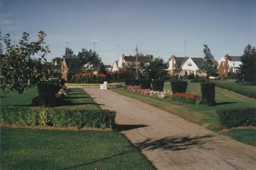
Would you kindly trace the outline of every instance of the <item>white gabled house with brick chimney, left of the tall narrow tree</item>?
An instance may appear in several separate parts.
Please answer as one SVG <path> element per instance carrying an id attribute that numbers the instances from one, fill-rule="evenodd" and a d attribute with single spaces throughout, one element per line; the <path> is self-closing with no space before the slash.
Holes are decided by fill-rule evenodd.
<path id="1" fill-rule="evenodd" d="M 198 76 L 207 76 L 200 67 L 204 64 L 204 59 L 200 57 L 176 57 L 172 55 L 170 61 L 168 62 L 168 71 L 170 75 L 175 74 L 175 64 L 180 63 L 181 71 L 180 75 L 184 76 L 187 74 L 195 74 Z M 216 64 L 216 63 L 214 63 Z"/>

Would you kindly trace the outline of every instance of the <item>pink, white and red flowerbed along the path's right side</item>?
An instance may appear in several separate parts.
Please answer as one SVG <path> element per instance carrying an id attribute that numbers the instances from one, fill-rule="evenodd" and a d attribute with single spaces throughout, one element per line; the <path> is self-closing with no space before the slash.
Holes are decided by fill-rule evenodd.
<path id="1" fill-rule="evenodd" d="M 156 92 L 151 89 L 141 89 L 140 86 L 127 86 L 128 90 L 132 92 L 137 92 L 144 95 L 150 95 L 159 98 L 170 98 L 172 101 L 177 101 L 184 104 L 204 104 L 202 97 L 196 94 L 189 93 L 175 93 L 172 94 L 169 90 L 164 90 L 163 92 Z"/>

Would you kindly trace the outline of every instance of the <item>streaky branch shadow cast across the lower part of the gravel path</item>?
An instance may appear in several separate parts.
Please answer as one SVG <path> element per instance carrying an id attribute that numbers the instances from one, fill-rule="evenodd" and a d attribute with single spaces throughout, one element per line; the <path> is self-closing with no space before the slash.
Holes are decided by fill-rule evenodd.
<path id="1" fill-rule="evenodd" d="M 152 141 L 151 139 L 145 139 L 145 141 L 140 143 L 135 143 L 134 146 L 139 148 L 140 150 L 169 150 L 169 151 L 179 151 L 186 150 L 192 147 L 203 148 L 205 150 L 214 150 L 214 148 L 207 148 L 205 143 L 208 143 L 212 135 L 206 136 L 172 136 L 166 137 L 162 139 L 158 139 L 156 141 Z"/>

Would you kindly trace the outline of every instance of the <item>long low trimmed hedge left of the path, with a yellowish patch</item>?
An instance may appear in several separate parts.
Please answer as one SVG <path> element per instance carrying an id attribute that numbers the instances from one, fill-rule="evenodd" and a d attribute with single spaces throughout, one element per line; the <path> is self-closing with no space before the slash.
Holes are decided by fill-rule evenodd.
<path id="1" fill-rule="evenodd" d="M 1 107 L 1 123 L 16 125 L 49 125 L 55 127 L 113 127 L 115 111 L 64 110 L 54 108 Z"/>

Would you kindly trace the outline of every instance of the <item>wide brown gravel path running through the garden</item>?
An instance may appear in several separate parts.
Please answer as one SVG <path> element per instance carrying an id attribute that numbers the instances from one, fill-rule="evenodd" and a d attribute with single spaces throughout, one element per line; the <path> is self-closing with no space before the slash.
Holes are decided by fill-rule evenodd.
<path id="1" fill-rule="evenodd" d="M 116 111 L 117 129 L 157 169 L 256 169 L 256 148 L 110 90 L 84 88 Z"/>

